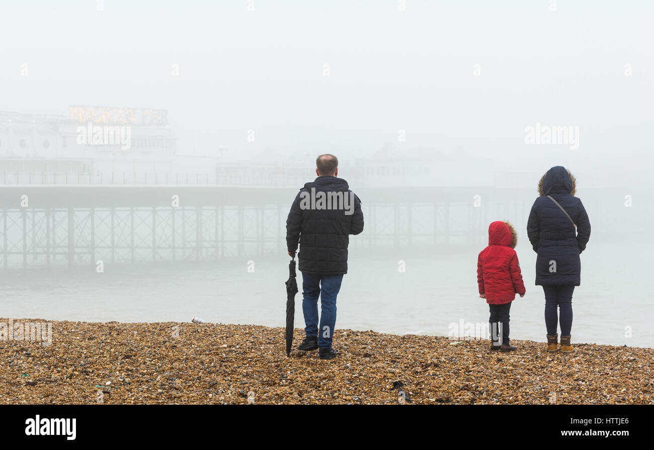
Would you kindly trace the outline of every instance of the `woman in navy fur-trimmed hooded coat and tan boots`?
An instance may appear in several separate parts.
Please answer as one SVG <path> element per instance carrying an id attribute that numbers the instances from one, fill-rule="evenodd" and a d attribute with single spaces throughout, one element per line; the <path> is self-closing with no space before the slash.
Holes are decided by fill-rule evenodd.
<path id="1" fill-rule="evenodd" d="M 538 183 L 540 197 L 534 201 L 527 221 L 529 241 L 538 253 L 536 285 L 542 285 L 545 292 L 548 352 L 559 350 L 557 321 L 561 351 L 574 351 L 570 344 L 572 292 L 581 283 L 579 254 L 591 237 L 591 222 L 575 192 L 575 178 L 570 171 L 560 165 L 552 167 Z"/>

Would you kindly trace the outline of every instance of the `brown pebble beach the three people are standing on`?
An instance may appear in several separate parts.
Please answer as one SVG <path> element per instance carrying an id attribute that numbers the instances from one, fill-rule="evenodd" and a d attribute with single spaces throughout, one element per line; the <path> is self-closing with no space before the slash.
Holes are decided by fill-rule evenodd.
<path id="1" fill-rule="evenodd" d="M 48 322 L 0 319 L 0 322 Z M 284 329 L 50 321 L 0 340 L 0 404 L 654 404 L 654 349 L 336 330 L 340 355 L 286 357 Z M 295 332 L 294 347 L 303 337 Z"/>

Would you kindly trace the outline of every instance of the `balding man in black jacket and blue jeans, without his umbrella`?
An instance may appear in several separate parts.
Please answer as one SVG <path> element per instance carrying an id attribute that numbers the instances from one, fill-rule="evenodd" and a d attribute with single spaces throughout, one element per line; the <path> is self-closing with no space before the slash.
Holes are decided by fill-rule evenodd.
<path id="1" fill-rule="evenodd" d="M 320 359 L 332 359 L 336 325 L 336 296 L 347 273 L 349 235 L 364 229 L 361 201 L 337 178 L 338 160 L 332 154 L 318 156 L 316 175 L 295 198 L 286 219 L 288 255 L 295 256 L 300 242 L 302 311 L 306 337 L 298 350 L 318 349 Z M 318 328 L 318 296 L 321 315 Z"/>

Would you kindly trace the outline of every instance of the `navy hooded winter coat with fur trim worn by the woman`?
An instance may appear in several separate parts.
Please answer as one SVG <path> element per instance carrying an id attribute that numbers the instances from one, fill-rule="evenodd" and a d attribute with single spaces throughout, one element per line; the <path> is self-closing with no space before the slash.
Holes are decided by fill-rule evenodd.
<path id="1" fill-rule="evenodd" d="M 538 183 L 540 197 L 534 201 L 527 221 L 527 235 L 535 252 L 536 285 L 581 284 L 579 254 L 591 237 L 591 222 L 581 199 L 574 196 L 575 179 L 565 167 L 557 165 Z M 552 196 L 570 215 L 570 219 L 547 196 Z"/>

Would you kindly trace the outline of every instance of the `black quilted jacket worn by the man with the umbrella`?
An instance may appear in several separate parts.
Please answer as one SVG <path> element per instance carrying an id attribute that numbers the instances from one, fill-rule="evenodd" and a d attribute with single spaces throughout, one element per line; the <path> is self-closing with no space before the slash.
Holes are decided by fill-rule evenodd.
<path id="1" fill-rule="evenodd" d="M 326 209 L 328 205 L 331 209 Z M 318 177 L 307 182 L 293 201 L 286 219 L 286 247 L 295 252 L 300 242 L 301 272 L 339 275 L 347 273 L 349 235 L 363 230 L 361 201 L 347 181 Z"/>

